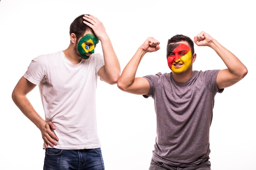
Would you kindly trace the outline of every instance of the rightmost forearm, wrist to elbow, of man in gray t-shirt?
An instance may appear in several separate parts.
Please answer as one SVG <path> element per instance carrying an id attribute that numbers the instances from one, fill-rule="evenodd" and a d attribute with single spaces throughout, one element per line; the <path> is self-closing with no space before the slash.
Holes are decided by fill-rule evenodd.
<path id="1" fill-rule="evenodd" d="M 231 74 L 239 78 L 243 78 L 246 75 L 247 68 L 245 65 L 219 42 L 213 39 L 209 46 L 220 56 Z"/>

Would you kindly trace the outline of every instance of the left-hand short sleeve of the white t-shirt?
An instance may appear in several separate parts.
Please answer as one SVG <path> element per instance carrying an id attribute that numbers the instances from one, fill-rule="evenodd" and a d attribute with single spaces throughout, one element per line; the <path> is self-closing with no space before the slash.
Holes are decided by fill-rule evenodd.
<path id="1" fill-rule="evenodd" d="M 27 79 L 29 82 L 39 85 L 45 77 L 45 68 L 45 56 L 40 55 L 31 61 L 23 77 L 25 77 L 25 79 Z"/>

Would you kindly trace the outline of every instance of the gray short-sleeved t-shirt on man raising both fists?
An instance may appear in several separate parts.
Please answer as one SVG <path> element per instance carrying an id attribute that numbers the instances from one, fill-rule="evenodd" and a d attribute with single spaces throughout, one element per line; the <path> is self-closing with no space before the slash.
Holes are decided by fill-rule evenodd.
<path id="1" fill-rule="evenodd" d="M 185 83 L 173 80 L 172 73 L 145 78 L 148 95 L 155 101 L 157 137 L 153 159 L 170 166 L 187 167 L 209 159 L 209 130 L 220 70 L 193 71 Z"/>

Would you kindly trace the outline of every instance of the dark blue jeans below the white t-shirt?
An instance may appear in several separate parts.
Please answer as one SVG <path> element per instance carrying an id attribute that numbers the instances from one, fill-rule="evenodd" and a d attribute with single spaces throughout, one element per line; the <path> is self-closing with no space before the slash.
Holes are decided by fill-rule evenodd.
<path id="1" fill-rule="evenodd" d="M 44 170 L 104 170 L 101 148 L 45 149 Z"/>

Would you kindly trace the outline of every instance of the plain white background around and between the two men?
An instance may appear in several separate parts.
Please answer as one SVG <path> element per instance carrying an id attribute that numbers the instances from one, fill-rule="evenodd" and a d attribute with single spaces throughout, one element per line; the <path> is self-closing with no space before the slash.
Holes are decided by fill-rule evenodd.
<path id="1" fill-rule="evenodd" d="M 40 130 L 16 107 L 11 93 L 33 58 L 67 48 L 71 22 L 85 13 L 103 22 L 121 69 L 146 38 L 153 36 L 160 41 L 161 49 L 147 53 L 141 61 L 139 77 L 170 72 L 166 43 L 175 34 L 193 39 L 206 31 L 238 56 L 249 72 L 216 95 L 211 168 L 256 170 L 256 12 L 251 0 L 1 0 L 1 170 L 43 169 Z M 102 53 L 101 45 L 95 50 Z M 194 70 L 225 68 L 209 47 L 195 45 L 195 53 Z M 28 97 L 44 117 L 38 87 Z M 156 135 L 153 99 L 99 81 L 97 116 L 106 170 L 147 170 Z"/>

